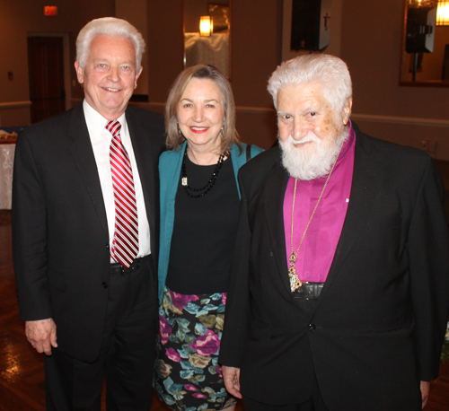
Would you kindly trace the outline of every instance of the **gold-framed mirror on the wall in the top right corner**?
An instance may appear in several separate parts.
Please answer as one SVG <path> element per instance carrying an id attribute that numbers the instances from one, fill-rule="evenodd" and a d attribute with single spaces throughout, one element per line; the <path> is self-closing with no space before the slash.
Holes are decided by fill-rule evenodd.
<path id="1" fill-rule="evenodd" d="M 400 83 L 449 87 L 449 1 L 405 0 Z"/>

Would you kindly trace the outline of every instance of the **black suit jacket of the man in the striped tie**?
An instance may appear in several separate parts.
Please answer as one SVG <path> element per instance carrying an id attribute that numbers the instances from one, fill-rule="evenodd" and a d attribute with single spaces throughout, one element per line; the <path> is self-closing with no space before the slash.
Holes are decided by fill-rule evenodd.
<path id="1" fill-rule="evenodd" d="M 163 116 L 133 106 L 126 116 L 157 267 Z M 21 318 L 53 318 L 58 347 L 92 362 L 101 347 L 110 249 L 83 104 L 23 129 L 13 172 L 13 264 Z M 157 287 L 150 297 L 157 298 Z"/>

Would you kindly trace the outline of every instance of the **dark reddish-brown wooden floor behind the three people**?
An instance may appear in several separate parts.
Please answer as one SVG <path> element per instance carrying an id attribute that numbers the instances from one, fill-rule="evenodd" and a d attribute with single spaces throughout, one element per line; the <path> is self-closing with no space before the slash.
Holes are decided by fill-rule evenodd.
<path id="1" fill-rule="evenodd" d="M 0 324 L 0 411 L 44 411 L 42 356 L 26 341 L 23 322 L 18 317 L 11 225 L 0 226 Z M 104 404 L 101 409 L 106 410 Z M 151 411 L 167 410 L 168 407 L 154 398 Z M 237 411 L 244 411 L 242 404 L 237 406 Z M 449 363 L 432 383 L 426 411 L 449 411 Z"/>

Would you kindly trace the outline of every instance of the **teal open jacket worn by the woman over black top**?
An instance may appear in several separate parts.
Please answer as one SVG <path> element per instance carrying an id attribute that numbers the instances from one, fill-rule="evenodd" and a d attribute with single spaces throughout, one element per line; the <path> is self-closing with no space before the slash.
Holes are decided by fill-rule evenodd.
<path id="1" fill-rule="evenodd" d="M 180 166 L 186 143 L 181 144 L 177 150 L 164 152 L 159 158 L 159 179 L 161 180 L 161 240 L 159 249 L 159 302 L 163 300 L 163 288 L 167 278 L 167 270 L 170 258 L 170 247 L 172 245 L 172 233 L 174 223 L 174 201 L 178 182 L 180 179 Z M 251 145 L 251 158 L 261 153 L 263 150 L 256 145 Z M 239 153 L 237 144 L 233 144 L 231 149 L 231 161 L 233 162 L 233 173 L 237 182 L 237 173 L 246 162 L 246 144 L 242 143 L 242 154 Z M 237 182 L 237 189 L 240 189 Z"/>

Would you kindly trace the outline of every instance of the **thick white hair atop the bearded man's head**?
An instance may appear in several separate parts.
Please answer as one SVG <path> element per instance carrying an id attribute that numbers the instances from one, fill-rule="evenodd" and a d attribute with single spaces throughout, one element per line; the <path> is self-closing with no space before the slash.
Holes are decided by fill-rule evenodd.
<path id="1" fill-rule="evenodd" d="M 285 61 L 271 74 L 268 90 L 277 108 L 277 93 L 286 85 L 321 83 L 322 94 L 332 109 L 342 112 L 352 97 L 348 66 L 330 54 L 309 54 Z"/>

